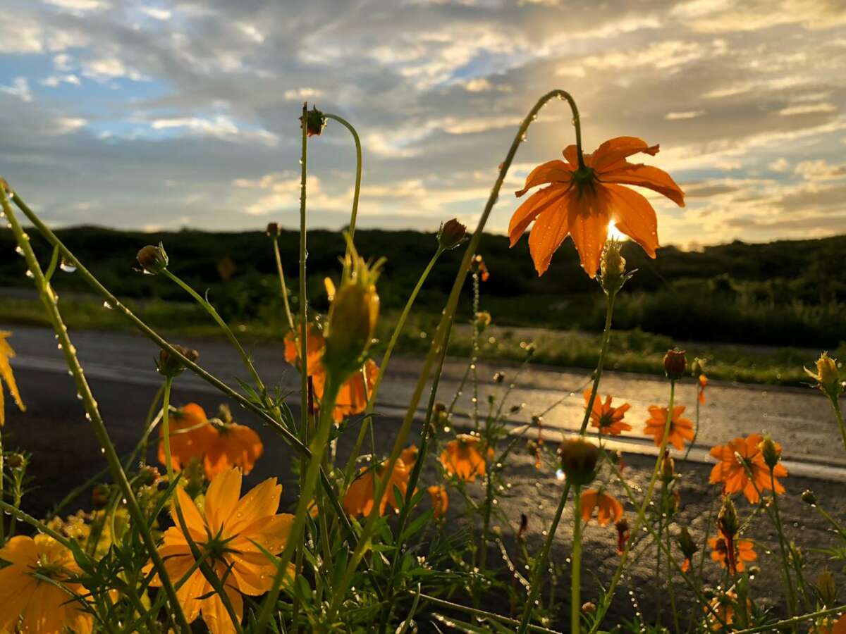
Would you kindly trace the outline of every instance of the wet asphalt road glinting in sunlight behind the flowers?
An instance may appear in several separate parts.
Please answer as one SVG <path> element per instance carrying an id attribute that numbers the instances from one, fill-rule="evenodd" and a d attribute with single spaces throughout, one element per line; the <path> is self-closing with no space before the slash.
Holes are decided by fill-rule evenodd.
<path id="1" fill-rule="evenodd" d="M 63 367 L 52 333 L 19 326 L 10 329 L 2 324 L 0 330 L 14 330 L 14 336 L 10 339 L 18 353 L 14 359 L 14 369 L 20 391 L 29 407 L 27 413 L 21 414 L 7 405 L 8 423 L 3 429 L 4 445 L 7 448 L 19 446 L 32 452 L 32 474 L 36 477 L 37 488 L 25 499 L 25 509 L 41 516 L 52 503 L 101 469 L 104 461 L 84 418 L 80 402 L 76 399 L 74 385 Z M 140 336 L 128 334 L 72 331 L 70 336 L 79 351 L 118 450 L 129 451 L 139 438 L 151 399 L 161 384 L 153 363 L 157 356 L 156 347 Z M 230 385 L 237 385 L 234 381 L 236 377 L 244 377 L 239 359 L 222 342 L 179 343 L 200 350 L 201 364 Z M 285 365 L 280 346 L 262 345 L 251 352 L 269 384 L 278 382 L 283 389 L 294 391 L 296 375 Z M 375 422 L 379 430 L 376 435 L 379 451 L 387 451 L 393 443 L 398 427 L 397 413 L 413 388 L 418 365 L 419 361 L 415 359 L 402 358 L 393 364 L 393 371 L 376 408 L 380 413 Z M 453 393 L 465 368 L 465 362 L 448 363 L 442 380 L 441 394 L 445 395 L 442 400 Z M 492 382 L 492 375 L 497 369 L 486 364 L 480 364 L 478 368 L 482 381 L 479 393 L 481 407 L 487 407 L 487 394 L 497 389 L 497 385 Z M 509 380 L 514 380 L 516 369 L 505 368 L 504 371 L 508 376 L 504 384 L 507 386 Z M 541 412 L 564 397 L 563 402 L 553 407 L 545 417 L 548 433 L 552 434 L 555 430 L 567 433 L 577 428 L 584 407 L 580 388 L 586 378 L 585 373 L 560 369 L 527 370 L 515 380 L 516 386 L 509 400 L 509 403 L 526 404 L 514 419 L 528 420 L 531 413 Z M 637 423 L 634 424 L 633 435 L 624 439 L 621 446 L 626 451 L 626 463 L 629 465 L 626 475 L 629 482 L 642 487 L 654 462 L 650 455 L 654 453 L 654 447 L 645 444 L 637 432 L 640 431 L 640 421 L 646 418 L 646 406 L 666 402 L 667 384 L 651 377 L 609 373 L 603 381 L 601 392 L 604 394 L 607 391 L 633 404 L 627 419 Z M 683 403 L 692 407 L 694 385 L 683 385 L 679 396 Z M 819 549 L 831 547 L 836 541 L 809 507 L 799 501 L 799 493 L 805 488 L 815 489 L 821 504 L 828 511 L 834 516 L 846 518 L 846 499 L 842 495 L 846 459 L 836 424 L 827 411 L 827 402 L 810 389 L 803 391 L 768 387 L 763 390 L 750 385 L 710 385 L 707 396 L 708 401 L 702 410 L 699 439 L 695 451 L 691 453 L 693 462 L 679 468 L 684 477 L 678 523 L 689 526 L 695 538 L 703 538 L 712 501 L 717 494 L 707 484 L 710 470 L 707 449 L 736 435 L 766 429 L 782 442 L 791 470 L 791 476 L 784 482 L 788 495 L 782 498 L 788 537 L 804 550 L 809 558 L 806 566 L 809 577 L 815 577 L 825 565 Z M 174 386 L 173 402 L 179 405 L 190 401 L 199 402 L 208 411 L 214 412 L 222 399 L 201 380 L 186 373 L 179 377 Z M 472 407 L 470 390 L 464 390 L 459 404 L 464 409 Z M 266 447 L 266 453 L 257 462 L 248 483 L 255 484 L 271 475 L 288 477 L 291 455 L 283 442 L 272 431 L 257 424 L 255 417 L 249 413 L 236 411 L 235 418 L 241 423 L 253 425 Z M 460 420 L 457 424 L 460 424 Z M 344 443 L 340 451 L 342 454 L 345 451 Z M 154 457 L 151 456 L 151 459 Z M 536 549 L 542 539 L 541 531 L 549 525 L 562 484 L 555 478 L 552 469 L 537 470 L 532 462 L 530 456 L 519 453 L 509 463 L 507 478 L 512 487 L 500 500 L 502 516 L 497 521 L 497 527 L 502 531 L 506 544 L 512 544 L 511 540 L 519 526 L 520 513 L 526 513 L 529 516 L 530 547 Z M 284 479 L 283 484 L 283 504 L 290 504 L 295 500 L 296 489 L 293 483 Z M 481 484 L 472 485 L 471 490 L 481 497 Z M 615 493 L 620 495 L 619 491 Z M 750 506 L 740 502 L 739 510 L 741 516 L 746 517 Z M 633 516 L 634 511 L 630 505 L 626 505 L 626 512 L 630 517 Z M 461 506 L 451 506 L 451 513 L 460 516 Z M 553 560 L 560 564 L 564 564 L 569 556 L 570 514 L 568 508 L 553 548 Z M 592 592 L 590 578 L 596 575 L 596 578 L 607 582 L 617 564 L 617 555 L 614 552 L 616 534 L 613 528 L 598 527 L 591 523 L 585 535 L 585 569 L 590 571 L 585 575 L 589 578 L 589 587 L 584 594 L 587 600 L 591 598 Z M 761 555 L 762 573 L 755 580 L 755 596 L 765 604 L 783 609 L 777 587 L 778 560 L 775 555 L 766 554 L 767 551 L 777 553 L 776 533 L 766 522 L 766 517 L 759 516 L 751 523 L 745 536 L 756 540 L 756 549 Z M 636 549 L 634 555 L 638 552 Z M 832 567 L 839 569 L 841 566 Z M 719 567 L 706 560 L 705 571 L 706 577 L 716 584 Z M 652 589 L 654 576 L 654 555 L 646 552 L 638 559 L 637 565 L 621 586 L 613 613 L 630 615 L 636 603 L 645 614 L 651 614 L 656 600 L 662 597 L 662 593 Z M 843 586 L 843 578 L 838 581 Z M 563 582 L 566 583 L 566 579 Z M 685 589 L 678 579 L 676 588 L 679 602 L 684 602 Z M 559 588 L 558 594 L 566 596 L 563 587 Z"/>

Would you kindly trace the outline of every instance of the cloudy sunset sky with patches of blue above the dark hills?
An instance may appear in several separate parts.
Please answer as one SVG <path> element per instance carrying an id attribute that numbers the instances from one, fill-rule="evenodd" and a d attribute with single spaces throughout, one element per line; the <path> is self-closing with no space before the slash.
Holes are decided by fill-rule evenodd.
<path id="1" fill-rule="evenodd" d="M 359 227 L 475 223 L 553 88 L 585 151 L 660 144 L 687 206 L 662 244 L 846 232 L 846 0 L 4 0 L 0 174 L 53 226 L 299 224 L 303 101 L 364 145 Z M 512 192 L 574 142 L 566 102 L 520 145 Z M 634 161 L 640 161 L 634 158 Z M 309 142 L 311 227 L 349 221 L 349 133 Z"/>

